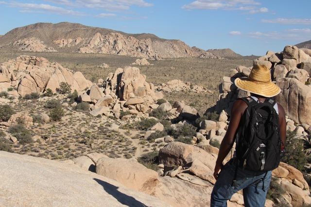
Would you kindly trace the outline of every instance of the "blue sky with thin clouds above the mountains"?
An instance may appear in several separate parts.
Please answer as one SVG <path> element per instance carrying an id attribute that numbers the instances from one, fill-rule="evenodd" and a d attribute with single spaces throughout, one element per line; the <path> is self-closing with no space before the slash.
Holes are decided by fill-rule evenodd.
<path id="1" fill-rule="evenodd" d="M 311 0 L 0 0 L 0 34 L 66 21 L 262 56 L 311 40 L 310 8 Z"/>

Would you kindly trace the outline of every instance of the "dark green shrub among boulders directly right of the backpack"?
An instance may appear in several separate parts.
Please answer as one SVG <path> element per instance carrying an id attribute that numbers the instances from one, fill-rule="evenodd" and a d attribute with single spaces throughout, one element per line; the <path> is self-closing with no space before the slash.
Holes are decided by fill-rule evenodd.
<path id="1" fill-rule="evenodd" d="M 304 165 L 307 162 L 307 158 L 303 153 L 303 140 L 295 138 L 296 131 L 287 130 L 286 132 L 286 153 L 281 158 L 282 162 L 285 162 L 300 172 L 303 172 Z"/>

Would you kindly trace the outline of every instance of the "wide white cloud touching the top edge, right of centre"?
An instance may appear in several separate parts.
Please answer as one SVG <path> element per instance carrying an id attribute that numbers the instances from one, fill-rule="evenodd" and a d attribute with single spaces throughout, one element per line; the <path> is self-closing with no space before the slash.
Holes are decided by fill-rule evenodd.
<path id="1" fill-rule="evenodd" d="M 260 5 L 254 0 L 196 0 L 190 4 L 185 4 L 182 9 L 227 9 L 227 10 L 250 10 L 248 6 Z M 252 7 L 253 8 L 253 7 Z"/>

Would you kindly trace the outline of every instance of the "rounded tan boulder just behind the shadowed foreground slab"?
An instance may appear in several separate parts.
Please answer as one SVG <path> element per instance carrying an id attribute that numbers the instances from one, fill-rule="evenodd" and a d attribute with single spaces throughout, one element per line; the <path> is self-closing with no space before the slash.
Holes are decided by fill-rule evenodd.
<path id="1" fill-rule="evenodd" d="M 99 159 L 96 165 L 96 173 L 117 180 L 130 189 L 146 194 L 155 191 L 156 186 L 160 183 L 155 171 L 123 158 Z"/>

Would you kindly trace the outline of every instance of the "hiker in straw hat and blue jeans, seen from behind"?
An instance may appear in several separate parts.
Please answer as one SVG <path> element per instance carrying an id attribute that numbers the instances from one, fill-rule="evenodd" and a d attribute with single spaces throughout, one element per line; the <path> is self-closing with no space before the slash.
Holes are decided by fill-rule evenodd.
<path id="1" fill-rule="evenodd" d="M 225 137 L 220 145 L 218 158 L 216 160 L 214 177 L 217 181 L 211 193 L 210 206 L 226 207 L 227 200 L 229 200 L 234 193 L 243 189 L 243 199 L 245 207 L 264 207 L 267 191 L 271 181 L 272 170 L 264 171 L 260 167 L 259 170 L 249 168 L 248 170 L 243 169 L 243 167 L 241 167 L 240 161 L 238 161 L 238 158 L 240 158 L 240 156 L 237 157 L 237 155 L 239 155 L 239 151 L 237 151 L 239 144 L 236 145 L 233 158 L 230 159 L 225 165 L 223 165 L 223 161 L 227 156 L 227 154 L 229 153 L 229 151 L 231 150 L 235 139 L 237 139 L 236 143 L 239 143 L 239 129 L 243 124 L 242 119 L 244 111 L 246 110 L 246 108 L 248 108 L 249 103 L 247 103 L 247 101 L 249 102 L 253 101 L 253 103 L 256 105 L 260 105 L 265 101 L 267 102 L 268 100 L 271 100 L 270 102 L 273 103 L 275 101 L 270 99 L 270 97 L 279 94 L 280 88 L 271 81 L 271 74 L 269 68 L 266 65 L 257 65 L 257 64 L 251 70 L 251 73 L 248 78 L 237 78 L 235 80 L 235 84 L 238 88 L 250 92 L 251 96 L 248 98 L 244 98 L 244 100 L 242 99 L 236 100 L 232 106 L 230 123 L 227 132 L 225 134 Z M 276 113 L 275 111 L 273 112 L 274 114 L 276 114 L 275 119 L 278 118 L 278 120 L 276 121 L 279 121 L 280 135 L 278 135 L 278 137 L 281 140 L 281 142 L 279 141 L 281 146 L 278 146 L 280 150 L 276 153 L 279 153 L 282 150 L 285 152 L 285 149 L 283 149 L 286 143 L 285 111 L 283 107 L 279 104 L 275 104 L 273 108 L 271 107 L 271 109 L 276 110 Z M 245 116 L 247 115 L 247 113 L 245 113 Z M 264 144 L 263 148 L 265 148 Z M 275 160 L 277 159 L 277 157 L 278 160 Z M 265 162 L 269 163 L 269 161 L 276 162 L 275 165 L 277 167 L 279 164 L 279 159 L 280 155 L 278 154 L 274 158 L 274 160 L 263 159 L 263 161 L 262 160 L 261 161 L 263 162 L 262 163 L 263 165 Z M 244 161 L 246 162 L 246 159 Z M 236 169 L 237 166 L 238 168 Z"/>

